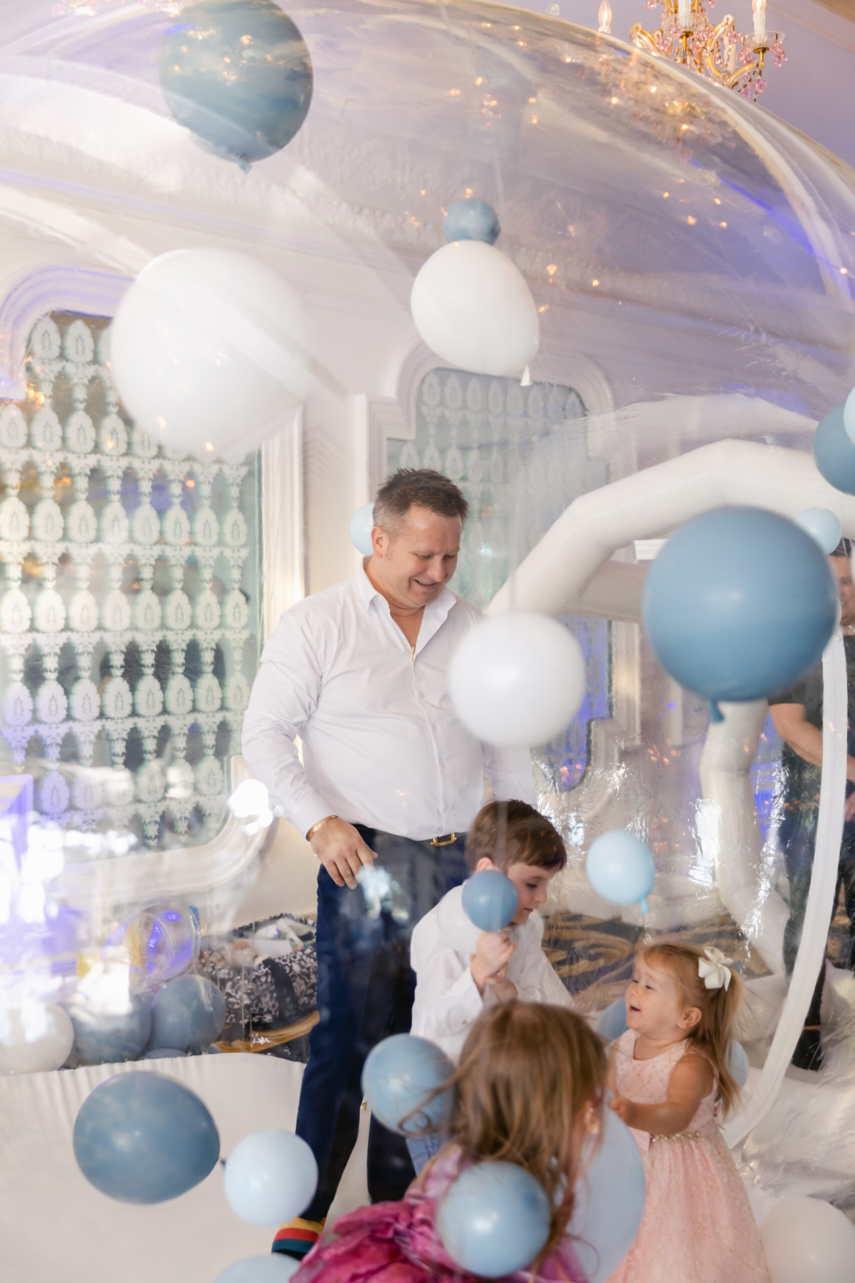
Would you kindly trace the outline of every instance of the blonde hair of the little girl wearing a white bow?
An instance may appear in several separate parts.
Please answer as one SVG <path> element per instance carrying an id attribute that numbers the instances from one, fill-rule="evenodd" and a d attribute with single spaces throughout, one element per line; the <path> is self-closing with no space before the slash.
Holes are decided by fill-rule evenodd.
<path id="1" fill-rule="evenodd" d="M 679 985 L 687 1007 L 697 1007 L 701 1019 L 688 1034 L 692 1047 L 709 1060 L 715 1074 L 718 1100 L 729 1114 L 740 1100 L 740 1088 L 729 1067 L 729 1047 L 733 1023 L 742 1005 L 742 981 L 731 969 L 731 983 L 726 989 L 708 989 L 697 973 L 697 964 L 706 961 L 702 949 L 693 944 L 649 944 L 638 958 L 651 966 L 659 965 Z"/>

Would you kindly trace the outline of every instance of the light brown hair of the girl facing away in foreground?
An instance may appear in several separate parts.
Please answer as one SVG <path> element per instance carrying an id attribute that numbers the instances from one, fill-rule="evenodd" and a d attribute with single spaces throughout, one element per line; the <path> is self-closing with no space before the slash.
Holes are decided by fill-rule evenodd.
<path id="1" fill-rule="evenodd" d="M 464 1162 L 515 1162 L 549 1197 L 552 1223 L 538 1262 L 573 1215 L 578 1120 L 586 1105 L 601 1119 L 605 1074 L 602 1042 L 577 1015 L 511 1002 L 478 1017 L 451 1079 L 449 1132 Z"/>

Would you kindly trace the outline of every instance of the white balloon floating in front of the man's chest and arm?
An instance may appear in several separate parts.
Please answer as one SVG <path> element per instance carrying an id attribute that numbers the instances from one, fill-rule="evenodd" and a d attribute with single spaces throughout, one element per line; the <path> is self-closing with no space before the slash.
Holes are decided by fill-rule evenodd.
<path id="1" fill-rule="evenodd" d="M 579 643 L 546 615 L 509 611 L 482 620 L 451 658 L 449 695 L 464 726 L 485 743 L 544 744 L 582 703 Z"/>

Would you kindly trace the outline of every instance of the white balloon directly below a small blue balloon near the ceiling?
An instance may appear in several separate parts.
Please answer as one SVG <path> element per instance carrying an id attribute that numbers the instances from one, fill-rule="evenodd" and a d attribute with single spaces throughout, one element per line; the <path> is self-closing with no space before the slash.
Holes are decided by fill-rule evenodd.
<path id="1" fill-rule="evenodd" d="M 452 241 L 431 254 L 413 282 L 413 321 L 442 361 L 476 375 L 515 375 L 540 344 L 526 278 L 485 241 Z"/>

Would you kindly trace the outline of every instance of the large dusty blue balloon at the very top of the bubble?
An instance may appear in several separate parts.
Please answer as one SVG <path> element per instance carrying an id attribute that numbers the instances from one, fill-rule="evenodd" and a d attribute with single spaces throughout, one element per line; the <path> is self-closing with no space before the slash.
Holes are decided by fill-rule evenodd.
<path id="1" fill-rule="evenodd" d="M 242 169 L 286 146 L 311 101 L 309 50 L 273 0 L 183 9 L 163 35 L 159 72 L 178 124 Z"/>

